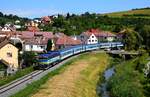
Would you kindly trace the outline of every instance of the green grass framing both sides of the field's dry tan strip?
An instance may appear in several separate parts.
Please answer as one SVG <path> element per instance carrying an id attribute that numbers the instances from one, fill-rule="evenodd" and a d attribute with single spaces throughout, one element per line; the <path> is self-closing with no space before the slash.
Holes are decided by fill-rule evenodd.
<path id="1" fill-rule="evenodd" d="M 74 95 L 76 97 L 96 97 L 97 96 L 96 94 L 97 82 L 99 81 L 99 77 L 101 77 L 100 74 L 103 73 L 103 71 L 106 69 L 107 63 L 108 63 L 107 62 L 108 56 L 104 53 L 102 54 L 101 53 L 98 53 L 98 54 L 87 53 L 87 54 L 80 55 L 79 57 L 72 59 L 69 62 L 65 63 L 60 68 L 50 72 L 49 74 L 47 74 L 40 80 L 35 81 L 32 84 L 29 84 L 25 89 L 14 94 L 11 97 L 30 97 L 38 93 L 40 90 L 45 89 L 43 88 L 43 85 L 47 86 L 47 82 L 50 78 L 53 79 L 56 75 L 60 75 L 61 79 L 64 79 L 65 76 L 64 77 L 62 76 L 64 72 L 66 72 L 69 69 L 69 67 L 76 66 L 75 63 L 76 62 L 80 63 L 81 60 L 86 61 L 88 63 L 88 67 L 86 67 L 83 71 L 79 72 L 80 74 L 79 79 L 75 80 L 76 92 L 74 93 Z M 48 84 L 52 85 L 52 83 L 48 83 Z M 46 90 L 47 90 L 47 87 L 46 87 Z M 75 97 L 75 96 L 72 95 L 72 97 Z"/>

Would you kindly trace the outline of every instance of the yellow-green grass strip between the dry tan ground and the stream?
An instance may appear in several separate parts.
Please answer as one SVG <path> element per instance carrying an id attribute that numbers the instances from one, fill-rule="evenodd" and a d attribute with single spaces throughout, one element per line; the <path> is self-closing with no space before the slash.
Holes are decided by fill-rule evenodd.
<path id="1" fill-rule="evenodd" d="M 102 74 L 109 64 L 109 57 L 104 53 L 95 54 L 89 59 L 89 64 L 76 82 L 76 97 L 98 97 L 96 87 L 103 79 Z"/>

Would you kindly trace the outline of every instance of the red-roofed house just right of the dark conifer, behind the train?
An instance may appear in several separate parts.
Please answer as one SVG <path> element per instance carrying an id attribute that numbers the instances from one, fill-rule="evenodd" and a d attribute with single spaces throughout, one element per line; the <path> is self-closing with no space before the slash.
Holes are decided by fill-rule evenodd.
<path id="1" fill-rule="evenodd" d="M 70 46 L 82 44 L 81 40 L 72 38 L 63 33 L 55 33 L 54 38 L 55 49 L 62 49 Z"/>

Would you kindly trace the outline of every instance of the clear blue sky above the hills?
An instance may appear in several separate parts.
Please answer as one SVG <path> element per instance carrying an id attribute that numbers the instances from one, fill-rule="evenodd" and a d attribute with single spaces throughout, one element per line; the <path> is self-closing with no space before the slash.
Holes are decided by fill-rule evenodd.
<path id="1" fill-rule="evenodd" d="M 53 14 L 110 13 L 150 7 L 150 0 L 0 0 L 0 12 L 37 18 Z"/>

